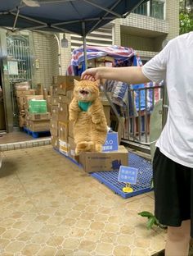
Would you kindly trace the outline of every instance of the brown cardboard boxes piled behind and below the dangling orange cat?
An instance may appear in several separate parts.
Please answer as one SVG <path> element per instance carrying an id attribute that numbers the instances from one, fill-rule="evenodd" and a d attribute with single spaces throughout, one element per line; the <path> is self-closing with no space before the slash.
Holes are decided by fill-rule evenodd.
<path id="1" fill-rule="evenodd" d="M 74 122 L 69 121 L 69 104 L 73 98 L 74 79 L 79 80 L 79 77 L 60 75 L 53 79 L 53 85 L 51 87 L 52 146 L 65 154 L 65 156 L 80 162 L 84 170 L 88 172 L 119 170 L 120 164 L 128 165 L 128 150 L 123 146 L 114 152 L 82 153 L 80 158 L 75 156 Z M 110 104 L 103 93 L 101 93 L 100 97 L 107 123 L 110 125 Z"/>

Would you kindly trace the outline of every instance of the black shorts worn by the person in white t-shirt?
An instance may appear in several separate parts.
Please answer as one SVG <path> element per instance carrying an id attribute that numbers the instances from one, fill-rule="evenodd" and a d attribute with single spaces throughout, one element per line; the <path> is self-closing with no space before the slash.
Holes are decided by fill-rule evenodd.
<path id="1" fill-rule="evenodd" d="M 193 237 L 193 168 L 167 158 L 157 148 L 153 161 L 155 217 L 165 226 L 191 219 Z"/>

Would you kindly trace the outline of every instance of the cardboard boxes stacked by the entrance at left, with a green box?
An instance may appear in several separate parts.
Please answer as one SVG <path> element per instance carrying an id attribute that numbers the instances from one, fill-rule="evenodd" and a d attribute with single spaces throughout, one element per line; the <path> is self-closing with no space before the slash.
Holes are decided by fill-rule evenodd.
<path id="1" fill-rule="evenodd" d="M 20 112 L 20 127 L 25 126 L 32 131 L 50 130 L 51 114 L 47 112 L 41 85 L 38 85 L 38 89 L 29 89 L 28 82 L 16 83 L 16 100 Z M 37 107 L 37 103 L 40 106 Z"/>

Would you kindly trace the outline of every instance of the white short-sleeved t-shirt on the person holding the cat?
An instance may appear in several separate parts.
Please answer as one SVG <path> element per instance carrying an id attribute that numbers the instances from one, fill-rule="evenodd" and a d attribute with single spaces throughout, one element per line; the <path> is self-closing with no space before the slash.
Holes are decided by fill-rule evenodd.
<path id="1" fill-rule="evenodd" d="M 193 32 L 169 41 L 142 67 L 155 82 L 166 80 L 168 118 L 156 146 L 174 162 L 193 167 Z"/>

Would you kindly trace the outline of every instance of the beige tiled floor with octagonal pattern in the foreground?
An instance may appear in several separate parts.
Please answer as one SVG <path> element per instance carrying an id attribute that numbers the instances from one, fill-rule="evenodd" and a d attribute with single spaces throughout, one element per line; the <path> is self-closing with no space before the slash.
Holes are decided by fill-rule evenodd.
<path id="1" fill-rule="evenodd" d="M 152 193 L 122 199 L 52 146 L 3 152 L 0 255 L 148 256 L 164 231 L 146 229 Z"/>

